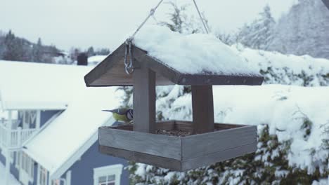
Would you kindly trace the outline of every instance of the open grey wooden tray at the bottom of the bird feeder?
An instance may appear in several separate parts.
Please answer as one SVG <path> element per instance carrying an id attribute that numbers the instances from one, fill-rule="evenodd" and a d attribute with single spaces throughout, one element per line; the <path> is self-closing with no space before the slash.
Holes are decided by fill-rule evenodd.
<path id="1" fill-rule="evenodd" d="M 164 121 L 156 130 L 193 133 L 193 123 Z M 256 126 L 214 124 L 214 131 L 188 136 L 134 132 L 133 125 L 99 128 L 99 150 L 111 156 L 165 167 L 191 170 L 235 158 L 257 149 Z"/>

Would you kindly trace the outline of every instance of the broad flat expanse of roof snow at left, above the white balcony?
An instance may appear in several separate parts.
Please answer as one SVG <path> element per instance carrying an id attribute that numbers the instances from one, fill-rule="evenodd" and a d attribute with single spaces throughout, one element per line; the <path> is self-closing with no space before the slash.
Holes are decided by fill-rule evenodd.
<path id="1" fill-rule="evenodd" d="M 90 69 L 0 60 L 1 106 L 3 109 L 66 109 L 71 98 L 84 90 L 81 76 Z"/>

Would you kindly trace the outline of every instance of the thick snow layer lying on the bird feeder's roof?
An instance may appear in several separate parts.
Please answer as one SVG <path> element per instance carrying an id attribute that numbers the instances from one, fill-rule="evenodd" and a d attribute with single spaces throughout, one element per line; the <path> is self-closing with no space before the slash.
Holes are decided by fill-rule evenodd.
<path id="1" fill-rule="evenodd" d="M 143 27 L 134 45 L 183 74 L 259 75 L 211 34 L 179 34 L 167 27 Z"/>

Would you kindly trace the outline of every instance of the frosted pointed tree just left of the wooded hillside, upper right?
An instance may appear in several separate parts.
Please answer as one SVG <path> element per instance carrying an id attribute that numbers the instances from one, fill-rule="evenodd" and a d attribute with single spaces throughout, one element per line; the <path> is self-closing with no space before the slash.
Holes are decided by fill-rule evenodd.
<path id="1" fill-rule="evenodd" d="M 265 6 L 264 11 L 259 13 L 257 20 L 254 20 L 250 25 L 246 24 L 240 29 L 238 41 L 249 48 L 267 50 L 273 39 L 275 25 L 276 22 L 271 15 L 271 8 Z"/>

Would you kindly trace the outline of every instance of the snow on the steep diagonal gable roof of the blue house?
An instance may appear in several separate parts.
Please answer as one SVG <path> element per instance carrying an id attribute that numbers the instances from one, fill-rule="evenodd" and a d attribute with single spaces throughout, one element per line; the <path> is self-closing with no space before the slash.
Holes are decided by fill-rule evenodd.
<path id="1" fill-rule="evenodd" d="M 120 99 L 115 95 L 116 88 L 97 89 L 101 91 L 89 95 L 80 92 L 63 114 L 25 144 L 25 151 L 29 156 L 49 170 L 51 175 L 112 116 L 101 110 L 119 107 Z M 53 156 L 54 153 L 56 157 Z"/>

